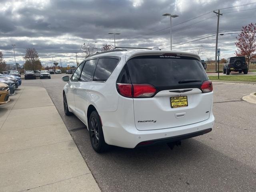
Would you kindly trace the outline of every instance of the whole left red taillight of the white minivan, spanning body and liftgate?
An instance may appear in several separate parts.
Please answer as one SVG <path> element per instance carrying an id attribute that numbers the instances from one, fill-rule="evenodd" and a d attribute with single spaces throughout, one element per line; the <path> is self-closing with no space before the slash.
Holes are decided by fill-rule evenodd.
<path id="1" fill-rule="evenodd" d="M 156 88 L 149 84 L 117 83 L 116 85 L 118 92 L 124 97 L 151 97 L 156 93 Z"/>

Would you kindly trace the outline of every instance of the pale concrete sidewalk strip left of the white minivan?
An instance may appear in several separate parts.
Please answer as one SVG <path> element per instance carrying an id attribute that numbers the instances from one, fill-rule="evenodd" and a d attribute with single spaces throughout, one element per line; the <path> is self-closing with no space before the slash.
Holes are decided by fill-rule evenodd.
<path id="1" fill-rule="evenodd" d="M 1 192 L 100 192 L 44 88 L 0 106 Z"/>

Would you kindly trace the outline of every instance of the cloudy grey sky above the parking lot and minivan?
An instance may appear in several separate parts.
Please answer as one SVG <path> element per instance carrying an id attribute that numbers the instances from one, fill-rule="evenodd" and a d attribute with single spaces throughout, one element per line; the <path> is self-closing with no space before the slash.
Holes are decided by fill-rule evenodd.
<path id="1" fill-rule="evenodd" d="M 162 14 L 172 13 L 179 15 L 172 20 L 173 50 L 192 52 L 202 44 L 206 60 L 215 54 L 217 17 L 212 11 L 218 9 L 223 13 L 220 33 L 240 32 L 256 22 L 255 0 L 0 0 L 0 50 L 7 64 L 14 63 L 11 45 L 16 44 L 20 64 L 26 48 L 36 48 L 42 64 L 50 66 L 53 57 L 65 66 L 75 64 L 74 52 L 82 61 L 84 42 L 96 42 L 98 48 L 114 45 L 109 32 L 121 33 L 116 46 L 170 50 L 170 19 Z M 219 36 L 221 58 L 234 55 L 236 36 Z"/>

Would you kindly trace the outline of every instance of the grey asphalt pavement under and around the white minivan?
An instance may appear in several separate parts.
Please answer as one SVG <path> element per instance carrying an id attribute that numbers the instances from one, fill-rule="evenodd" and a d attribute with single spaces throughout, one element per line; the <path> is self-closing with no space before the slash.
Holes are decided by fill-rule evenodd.
<path id="1" fill-rule="evenodd" d="M 173 150 L 162 144 L 97 154 L 84 124 L 64 115 L 63 75 L 22 85 L 46 88 L 103 192 L 256 191 L 256 104 L 241 99 L 256 85 L 214 83 L 213 131 Z"/>

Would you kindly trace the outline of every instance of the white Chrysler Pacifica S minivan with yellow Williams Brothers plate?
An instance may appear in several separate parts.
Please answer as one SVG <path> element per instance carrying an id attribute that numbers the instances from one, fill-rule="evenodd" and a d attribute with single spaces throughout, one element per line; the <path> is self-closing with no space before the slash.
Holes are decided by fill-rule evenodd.
<path id="1" fill-rule="evenodd" d="M 212 82 L 196 54 L 114 49 L 62 80 L 65 114 L 86 124 L 96 152 L 174 143 L 214 124 Z"/>

